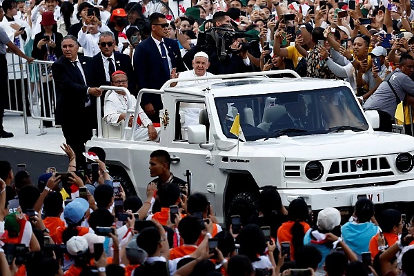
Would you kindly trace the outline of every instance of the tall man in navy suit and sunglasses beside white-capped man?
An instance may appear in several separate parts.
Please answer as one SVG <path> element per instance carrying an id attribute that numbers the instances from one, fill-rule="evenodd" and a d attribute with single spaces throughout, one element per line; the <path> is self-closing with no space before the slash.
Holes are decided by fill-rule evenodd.
<path id="1" fill-rule="evenodd" d="M 138 44 L 134 55 L 134 70 L 138 90 L 159 89 L 170 79 L 172 68 L 177 72 L 186 71 L 178 44 L 168 39 L 166 16 L 159 12 L 150 15 L 151 37 Z M 141 106 L 153 122 L 159 122 L 159 110 L 163 108 L 161 96 L 144 94 Z"/>

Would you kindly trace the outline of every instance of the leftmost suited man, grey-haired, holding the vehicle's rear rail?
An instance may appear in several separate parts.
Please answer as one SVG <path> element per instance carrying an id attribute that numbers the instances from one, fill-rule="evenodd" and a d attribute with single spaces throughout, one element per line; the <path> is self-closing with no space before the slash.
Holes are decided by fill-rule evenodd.
<path id="1" fill-rule="evenodd" d="M 62 126 L 66 144 L 75 152 L 78 168 L 84 168 L 82 152 L 97 124 L 96 97 L 102 95 L 102 90 L 91 87 L 92 58 L 78 56 L 78 49 L 76 37 L 63 37 L 63 56 L 52 64 L 52 74 L 57 97 L 56 124 Z"/>

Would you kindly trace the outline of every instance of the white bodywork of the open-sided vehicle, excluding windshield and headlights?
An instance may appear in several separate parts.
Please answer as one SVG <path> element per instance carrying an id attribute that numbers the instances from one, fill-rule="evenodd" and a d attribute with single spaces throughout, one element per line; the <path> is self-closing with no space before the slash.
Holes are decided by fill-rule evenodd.
<path id="1" fill-rule="evenodd" d="M 225 76 L 217 76 L 224 80 L 212 79 L 208 83 L 179 88 L 166 88 L 167 85 L 164 85 L 165 88 L 159 91 L 141 90 L 139 98 L 142 92 L 159 92 L 163 95 L 164 110 L 161 110 L 160 117 L 169 117 L 169 124 L 163 125 L 161 118 L 159 143 L 132 141 L 131 128 L 124 127 L 125 139 L 102 137 L 98 133 L 86 146 L 103 148 L 110 172 L 111 168 L 115 168 L 118 174 L 122 170 L 141 198 L 145 197 L 147 184 L 152 180 L 148 170 L 150 153 L 157 149 L 167 150 L 172 160 L 175 160 L 172 161 L 171 171 L 181 179 L 186 179 L 183 175 L 186 170 L 192 172 L 192 193 L 203 193 L 208 197 L 219 221 L 235 215 L 235 206 L 231 206 L 231 202 L 237 195 L 248 193 L 249 196 L 257 197 L 264 186 L 277 187 L 285 206 L 293 199 L 303 197 L 313 210 L 353 206 L 358 195 L 366 195 L 379 204 L 413 201 L 414 171 L 400 172 L 395 166 L 400 153 L 414 154 L 413 137 L 374 132 L 371 122 L 377 124 L 377 116 L 370 114 L 368 120 L 359 104 L 357 112 L 361 112 L 369 124 L 364 131 L 344 130 L 293 137 L 283 135 L 267 141 L 241 141 L 237 146 L 237 139 L 226 137 L 221 128 L 215 103 L 217 99 L 244 95 L 260 97 L 266 93 L 302 92 L 309 89 L 341 88 L 352 91 L 345 81 L 268 79 L 253 75 L 266 73 L 233 76 L 250 76 L 249 79 L 224 79 Z M 242 85 L 231 86 L 235 81 L 242 81 Z M 352 95 L 352 101 L 357 103 L 355 95 Z M 193 106 L 205 104 L 210 123 L 208 142 L 203 137 L 206 135 L 204 125 L 188 126 L 184 131 L 188 141 L 176 139 L 176 108 L 181 105 L 180 102 L 192 103 Z M 180 125 L 183 131 L 182 119 Z M 320 179 L 310 180 L 306 177 L 305 167 L 309 161 L 319 161 L 323 165 Z"/>

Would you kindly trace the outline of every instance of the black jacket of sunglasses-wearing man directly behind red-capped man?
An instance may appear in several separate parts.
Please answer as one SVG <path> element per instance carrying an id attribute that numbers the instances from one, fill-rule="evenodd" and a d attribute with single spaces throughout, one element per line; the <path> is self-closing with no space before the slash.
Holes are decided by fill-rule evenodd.
<path id="1" fill-rule="evenodd" d="M 115 59 L 115 70 L 121 70 L 126 72 L 128 76 L 128 90 L 132 95 L 137 95 L 137 88 L 135 84 L 134 70 L 132 68 L 131 59 L 128 55 L 121 54 L 120 52 L 114 52 Z M 110 81 L 106 81 L 105 67 L 103 66 L 102 54 L 99 52 L 95 57 L 92 57 L 93 61 L 93 72 L 95 77 L 95 85 L 99 86 L 110 86 Z M 102 95 L 101 99 L 104 99 Z M 103 104 L 103 100 L 101 101 Z"/>

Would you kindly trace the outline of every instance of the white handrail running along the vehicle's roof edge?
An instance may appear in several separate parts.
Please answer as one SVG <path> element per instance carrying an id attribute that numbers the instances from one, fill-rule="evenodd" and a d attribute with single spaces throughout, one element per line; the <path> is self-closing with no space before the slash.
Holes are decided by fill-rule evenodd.
<path id="1" fill-rule="evenodd" d="M 164 88 L 170 87 L 171 83 L 174 82 L 183 82 L 183 81 L 202 81 L 204 79 L 234 79 L 239 77 L 259 77 L 259 76 L 268 76 L 268 75 L 282 75 L 282 74 L 290 74 L 293 75 L 296 79 L 300 79 L 301 77 L 297 72 L 290 70 L 290 69 L 283 69 L 283 70 L 272 70 L 272 71 L 262 71 L 262 72 L 247 72 L 247 73 L 237 73 L 237 74 L 226 74 L 226 75 L 215 75 L 215 76 L 206 76 L 206 77 L 188 77 L 183 79 L 169 79 L 164 83 L 164 85 L 160 88 L 163 90 Z"/>

